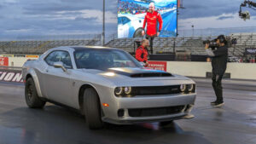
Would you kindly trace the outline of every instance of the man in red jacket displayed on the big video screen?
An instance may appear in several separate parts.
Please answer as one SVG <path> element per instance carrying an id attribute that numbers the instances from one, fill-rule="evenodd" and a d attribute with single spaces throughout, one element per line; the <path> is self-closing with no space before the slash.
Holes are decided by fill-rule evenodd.
<path id="1" fill-rule="evenodd" d="M 157 24 L 159 23 L 159 28 L 157 29 Z M 153 54 L 153 40 L 154 37 L 158 37 L 160 35 L 160 31 L 162 30 L 163 20 L 161 15 L 154 10 L 154 3 L 149 3 L 148 12 L 145 15 L 143 29 L 145 29 L 147 23 L 147 32 L 146 38 L 149 39 L 150 42 L 150 52 Z M 142 35 L 145 35 L 145 31 L 142 32 Z"/>

